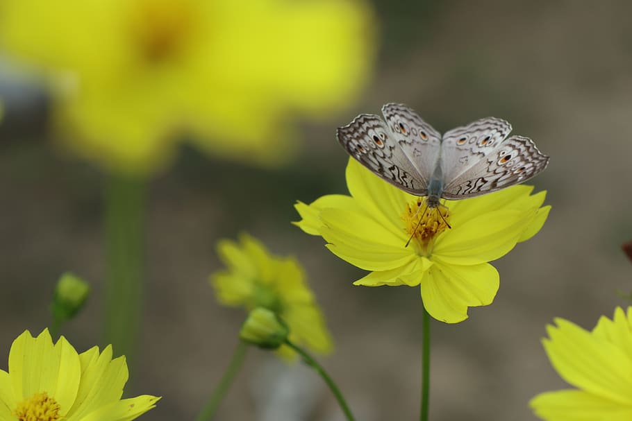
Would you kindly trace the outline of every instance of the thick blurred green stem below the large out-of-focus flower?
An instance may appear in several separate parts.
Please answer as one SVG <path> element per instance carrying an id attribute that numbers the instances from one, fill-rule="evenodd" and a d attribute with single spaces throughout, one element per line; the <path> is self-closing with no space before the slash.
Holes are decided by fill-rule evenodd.
<path id="1" fill-rule="evenodd" d="M 106 286 L 104 344 L 135 362 L 144 271 L 144 180 L 110 174 L 106 186 Z"/>

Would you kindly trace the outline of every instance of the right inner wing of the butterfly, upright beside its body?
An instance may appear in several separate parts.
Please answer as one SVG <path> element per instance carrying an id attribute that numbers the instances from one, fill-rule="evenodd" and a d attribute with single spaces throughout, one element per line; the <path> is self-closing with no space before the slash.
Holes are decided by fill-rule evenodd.
<path id="1" fill-rule="evenodd" d="M 511 125 L 507 121 L 488 117 L 446 132 L 441 145 L 446 184 L 497 149 L 510 131 Z"/>

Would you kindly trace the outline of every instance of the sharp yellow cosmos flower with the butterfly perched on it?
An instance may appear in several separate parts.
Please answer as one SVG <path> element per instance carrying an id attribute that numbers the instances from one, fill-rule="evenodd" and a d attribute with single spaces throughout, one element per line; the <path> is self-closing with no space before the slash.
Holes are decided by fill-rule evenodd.
<path id="1" fill-rule="evenodd" d="M 356 285 L 421 285 L 424 307 L 446 323 L 465 320 L 468 307 L 491 304 L 499 275 L 487 262 L 533 237 L 550 208 L 540 207 L 544 191 L 530 196 L 533 187 L 515 186 L 423 212 L 423 198 L 351 158 L 347 187 L 351 196 L 297 203 L 296 225 L 321 235 L 338 257 L 372 270 Z"/>

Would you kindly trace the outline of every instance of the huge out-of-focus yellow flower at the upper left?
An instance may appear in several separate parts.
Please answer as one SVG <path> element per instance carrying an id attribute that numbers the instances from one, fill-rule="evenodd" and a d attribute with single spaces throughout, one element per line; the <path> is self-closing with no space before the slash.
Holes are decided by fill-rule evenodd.
<path id="1" fill-rule="evenodd" d="M 287 159 L 290 117 L 366 82 L 373 32 L 360 0 L 0 1 L 0 48 L 49 76 L 65 140 L 135 173 L 166 164 L 177 137 Z"/>

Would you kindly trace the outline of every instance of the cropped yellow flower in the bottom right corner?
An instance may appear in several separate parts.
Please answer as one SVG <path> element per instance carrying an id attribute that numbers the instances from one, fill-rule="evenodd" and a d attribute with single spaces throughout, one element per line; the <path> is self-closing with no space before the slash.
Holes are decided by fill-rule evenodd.
<path id="1" fill-rule="evenodd" d="M 542 340 L 551 365 L 577 389 L 534 397 L 531 408 L 549 421 L 632 420 L 632 307 L 617 307 L 613 320 L 601 316 L 588 332 L 556 318 Z M 579 389 L 579 390 L 578 390 Z"/>

